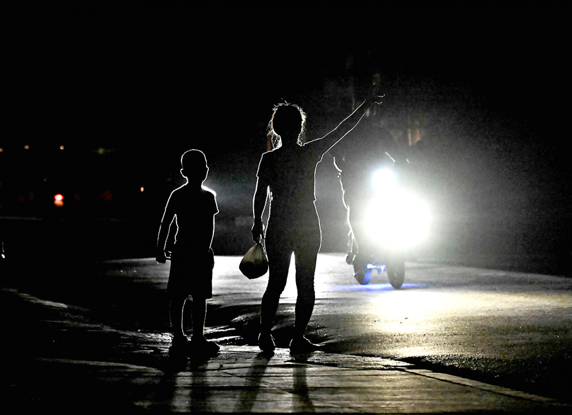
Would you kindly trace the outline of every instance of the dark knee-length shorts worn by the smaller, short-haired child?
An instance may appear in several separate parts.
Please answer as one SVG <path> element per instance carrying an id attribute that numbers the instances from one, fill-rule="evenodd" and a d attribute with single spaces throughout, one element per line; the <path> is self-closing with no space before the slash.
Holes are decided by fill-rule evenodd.
<path id="1" fill-rule="evenodd" d="M 201 258 L 193 250 L 174 247 L 167 294 L 169 297 L 192 295 L 196 298 L 212 298 L 214 266 L 215 255 L 212 250 Z"/>

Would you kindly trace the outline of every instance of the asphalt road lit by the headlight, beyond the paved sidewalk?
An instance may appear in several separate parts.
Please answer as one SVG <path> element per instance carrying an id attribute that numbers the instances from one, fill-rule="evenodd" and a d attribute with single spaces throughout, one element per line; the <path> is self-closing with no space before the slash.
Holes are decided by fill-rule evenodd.
<path id="1" fill-rule="evenodd" d="M 256 344 L 267 276 L 248 280 L 239 261 L 216 257 L 206 334 L 223 344 Z M 169 341 L 168 265 L 150 258 L 54 258 L 35 266 L 12 264 L 10 271 L 6 286 L 70 305 L 86 320 Z M 360 286 L 343 255 L 320 254 L 315 286 L 307 335 L 324 351 L 402 359 L 570 400 L 562 381 L 572 369 L 570 278 L 416 262 L 407 263 L 406 283 L 394 290 L 385 274 Z M 289 278 L 276 319 L 278 346 L 288 345 L 295 298 Z"/>

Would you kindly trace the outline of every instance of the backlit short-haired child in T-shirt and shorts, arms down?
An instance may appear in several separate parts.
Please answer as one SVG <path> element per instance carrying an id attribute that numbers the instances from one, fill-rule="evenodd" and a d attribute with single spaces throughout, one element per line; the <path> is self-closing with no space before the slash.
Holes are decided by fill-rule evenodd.
<path id="1" fill-rule="evenodd" d="M 173 330 L 172 351 L 185 354 L 215 354 L 216 343 L 204 336 L 206 300 L 212 298 L 212 269 L 215 265 L 210 248 L 215 231 L 215 215 L 219 213 L 215 193 L 202 187 L 209 168 L 200 150 L 189 150 L 181 156 L 181 175 L 187 183 L 169 196 L 157 239 L 157 262 L 165 263 L 165 243 L 169 226 L 176 221 L 177 233 L 170 256 L 169 317 Z M 193 298 L 193 335 L 189 342 L 183 330 L 183 308 Z"/>

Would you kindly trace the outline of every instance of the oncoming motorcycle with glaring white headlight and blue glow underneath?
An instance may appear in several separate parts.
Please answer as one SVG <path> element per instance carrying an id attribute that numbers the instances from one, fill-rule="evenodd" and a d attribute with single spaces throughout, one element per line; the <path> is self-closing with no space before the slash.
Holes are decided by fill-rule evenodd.
<path id="1" fill-rule="evenodd" d="M 367 191 L 359 213 L 348 217 L 351 228 L 347 263 L 353 264 L 360 284 L 386 272 L 391 286 L 399 289 L 405 280 L 408 254 L 428 232 L 427 205 L 408 191 L 407 164 L 399 167 L 390 155 L 372 166 Z M 353 223 L 352 223 L 353 222 Z M 357 245 L 357 252 L 355 246 Z"/>

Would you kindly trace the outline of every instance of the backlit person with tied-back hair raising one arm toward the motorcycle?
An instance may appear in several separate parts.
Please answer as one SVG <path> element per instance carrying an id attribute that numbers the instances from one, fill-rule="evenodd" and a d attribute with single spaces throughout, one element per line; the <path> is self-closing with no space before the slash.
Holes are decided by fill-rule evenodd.
<path id="1" fill-rule="evenodd" d="M 259 346 L 275 349 L 271 330 L 286 286 L 288 266 L 294 252 L 296 263 L 296 319 L 290 350 L 304 353 L 317 346 L 304 337 L 315 301 L 314 272 L 321 244 L 320 220 L 315 207 L 315 171 L 322 156 L 341 140 L 362 118 L 371 99 L 366 100 L 333 131 L 321 139 L 302 144 L 305 114 L 296 105 L 275 106 L 269 123 L 275 149 L 260 159 L 253 197 L 252 238 L 264 235 L 262 215 L 270 193 L 271 210 L 265 235 L 268 254 L 268 286 L 262 298 Z"/>

